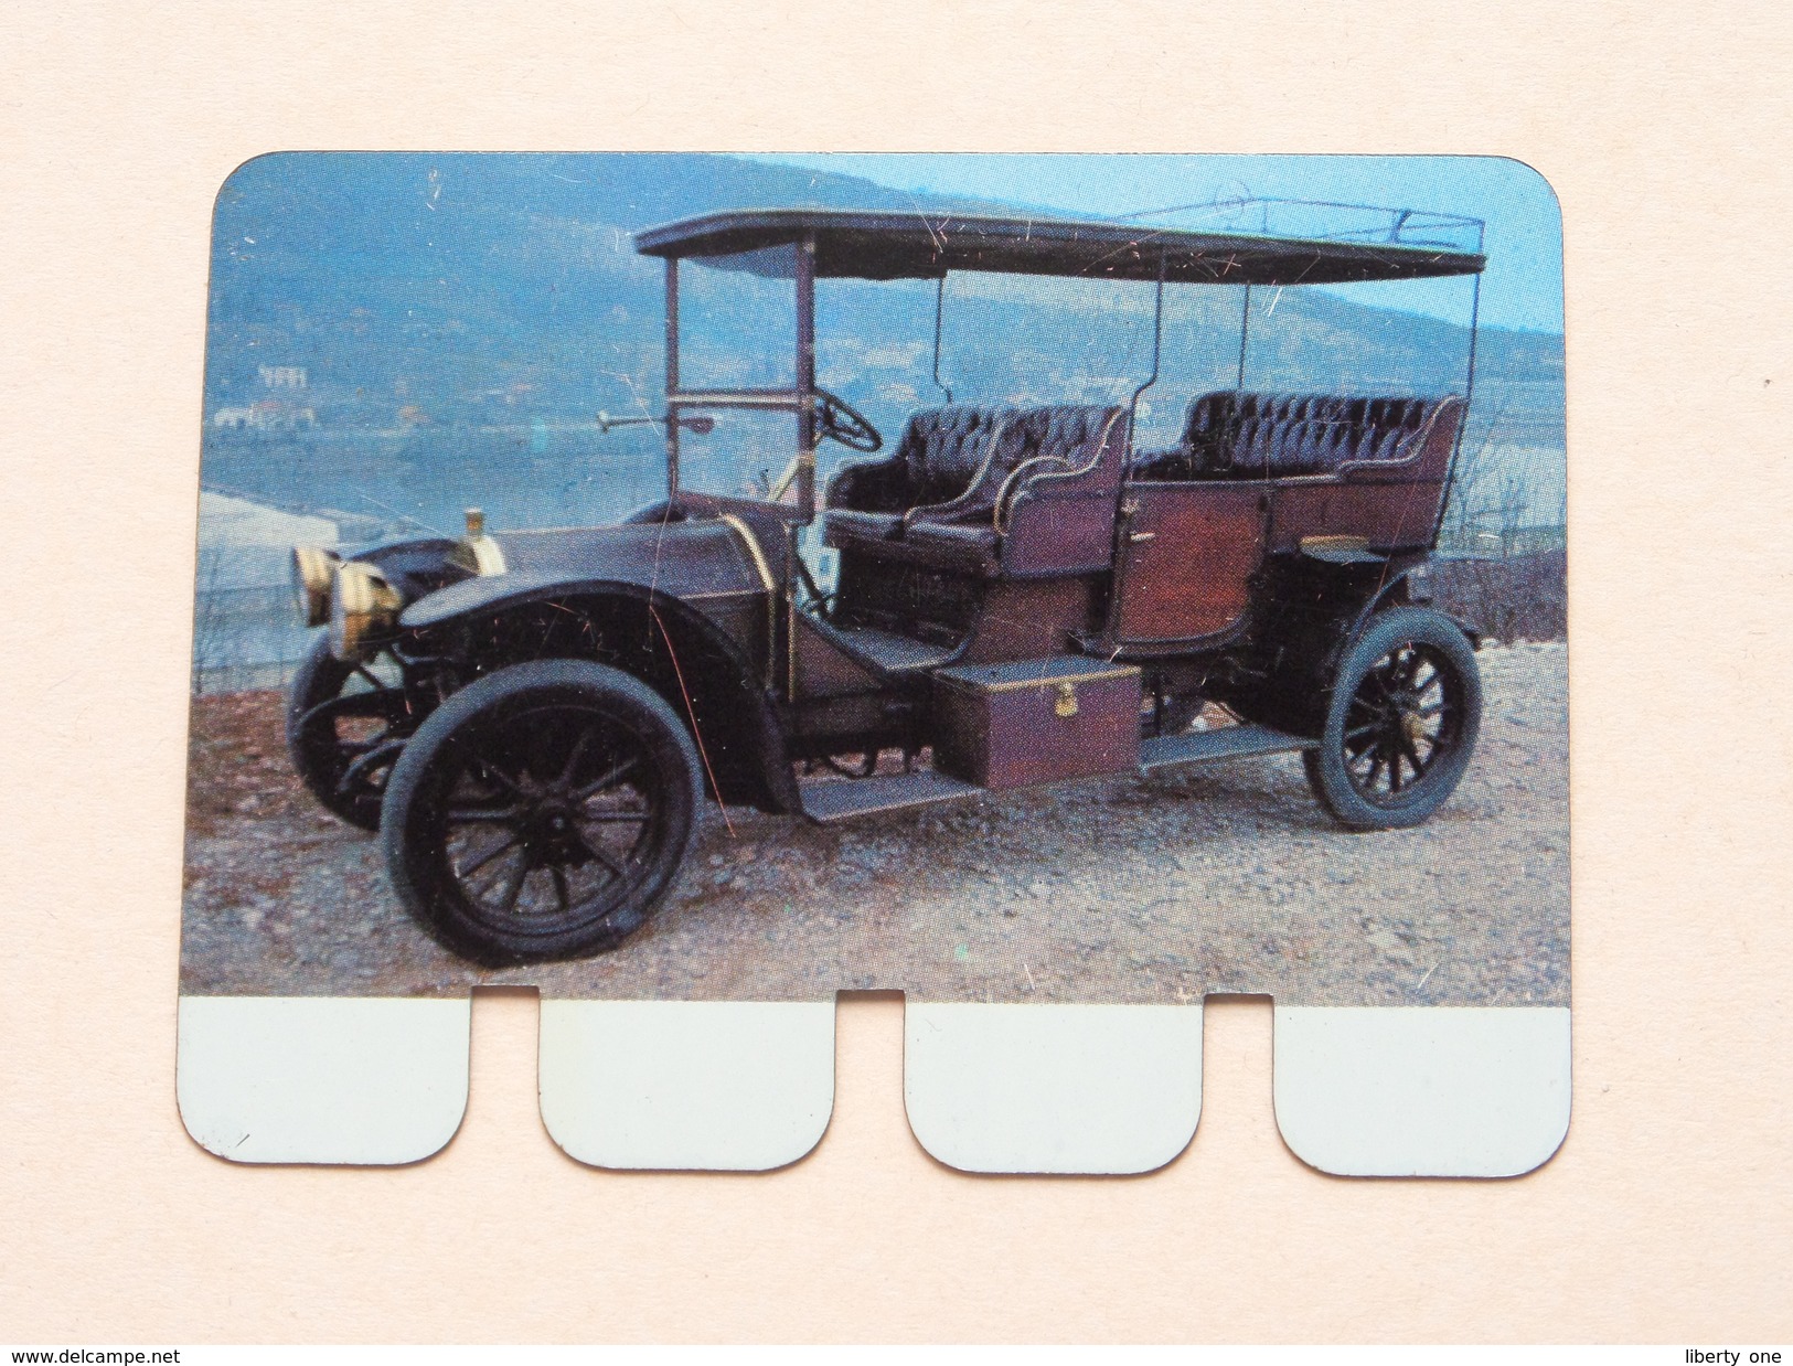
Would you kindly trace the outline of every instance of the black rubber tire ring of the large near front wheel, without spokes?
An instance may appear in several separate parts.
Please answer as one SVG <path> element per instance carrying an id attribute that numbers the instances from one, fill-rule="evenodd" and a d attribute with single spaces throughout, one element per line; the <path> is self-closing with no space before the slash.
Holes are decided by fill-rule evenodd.
<path id="1" fill-rule="evenodd" d="M 660 850 L 624 912 L 561 934 L 506 936 L 459 905 L 454 878 L 445 878 L 427 832 L 414 830 L 418 796 L 443 748 L 484 712 L 554 699 L 602 699 L 647 740 L 654 762 L 671 773 L 665 783 L 669 826 Z M 615 948 L 638 930 L 671 891 L 697 825 L 703 769 L 685 724 L 665 699 L 637 678 L 585 660 L 534 660 L 500 669 L 455 692 L 418 726 L 393 767 L 380 812 L 385 871 L 405 911 L 445 948 L 486 966 L 588 957 Z M 445 886 L 446 880 L 446 886 Z"/>

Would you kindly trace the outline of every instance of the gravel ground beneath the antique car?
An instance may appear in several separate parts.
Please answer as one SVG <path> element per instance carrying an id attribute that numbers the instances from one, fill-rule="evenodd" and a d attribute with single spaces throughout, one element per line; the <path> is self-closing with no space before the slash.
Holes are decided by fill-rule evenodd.
<path id="1" fill-rule="evenodd" d="M 393 900 L 290 776 L 278 694 L 194 703 L 181 990 L 197 995 L 1569 1004 L 1567 649 L 1481 654 L 1486 715 L 1424 826 L 1354 835 L 1295 756 L 821 828 L 710 810 L 619 950 L 486 972 Z"/>

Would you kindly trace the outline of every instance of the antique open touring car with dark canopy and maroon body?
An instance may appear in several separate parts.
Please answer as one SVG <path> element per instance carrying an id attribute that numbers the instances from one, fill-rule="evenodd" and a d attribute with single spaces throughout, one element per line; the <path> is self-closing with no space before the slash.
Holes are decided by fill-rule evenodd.
<path id="1" fill-rule="evenodd" d="M 1250 319 L 1253 287 L 1483 269 L 1479 233 L 1413 242 L 1404 220 L 1366 240 L 787 210 L 644 231 L 665 260 L 665 500 L 606 527 L 470 511 L 461 540 L 296 550 L 301 611 L 328 624 L 292 685 L 298 773 L 380 830 L 405 907 L 482 963 L 620 943 L 706 798 L 841 821 L 1300 751 L 1347 826 L 1415 825 L 1481 710 L 1470 635 L 1422 606 L 1474 341 L 1461 394 L 1395 396 L 1246 393 L 1241 335 L 1239 385 L 1176 398 L 1169 448 L 1131 439 L 1167 290 L 1243 285 Z M 782 301 L 778 366 L 719 364 L 730 303 L 699 272 Z M 938 281 L 938 382 L 948 272 L 1151 290 L 1151 376 L 1096 405 L 941 385 L 818 500 L 823 441 L 882 446 L 818 385 L 818 280 Z M 721 317 L 701 341 L 680 317 L 699 305 Z M 703 367 L 724 380 L 681 376 Z M 818 511 L 832 575 L 805 545 Z"/>

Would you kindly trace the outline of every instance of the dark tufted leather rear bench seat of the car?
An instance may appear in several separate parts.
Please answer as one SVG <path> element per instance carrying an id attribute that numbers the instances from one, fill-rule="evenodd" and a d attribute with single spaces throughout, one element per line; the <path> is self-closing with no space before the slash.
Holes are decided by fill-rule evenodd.
<path id="1" fill-rule="evenodd" d="M 1135 479 L 1296 479 L 1347 463 L 1404 461 L 1454 398 L 1201 394 L 1174 450 L 1142 454 Z"/>

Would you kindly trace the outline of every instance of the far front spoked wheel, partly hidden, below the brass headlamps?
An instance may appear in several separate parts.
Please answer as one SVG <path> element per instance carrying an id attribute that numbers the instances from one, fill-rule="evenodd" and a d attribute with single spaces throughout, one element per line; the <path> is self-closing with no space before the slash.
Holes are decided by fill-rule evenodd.
<path id="1" fill-rule="evenodd" d="M 328 810 L 378 830 L 385 782 L 416 721 L 398 660 L 344 663 L 319 638 L 287 694 L 287 753 Z"/>

